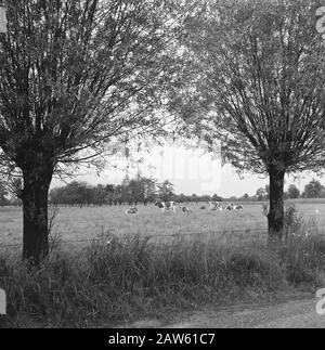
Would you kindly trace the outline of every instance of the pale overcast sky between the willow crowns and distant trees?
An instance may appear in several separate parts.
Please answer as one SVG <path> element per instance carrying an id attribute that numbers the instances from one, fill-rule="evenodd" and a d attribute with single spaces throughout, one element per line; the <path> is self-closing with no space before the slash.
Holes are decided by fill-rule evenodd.
<path id="1" fill-rule="evenodd" d="M 178 194 L 213 195 L 217 193 L 223 197 L 239 197 L 245 193 L 253 195 L 257 189 L 269 183 L 268 178 L 251 173 L 246 173 L 244 179 L 240 179 L 230 165 L 221 167 L 218 155 L 212 156 L 199 148 L 192 151 L 183 146 L 153 147 L 150 153 L 139 154 L 138 158 L 143 158 L 144 161 L 139 166 L 130 167 L 129 170 L 127 161 L 122 159 L 112 161 L 113 165 L 107 164 L 100 176 L 96 176 L 94 170 L 83 169 L 76 180 L 87 181 L 94 185 L 98 183 L 119 184 L 127 173 L 130 178 L 134 178 L 141 170 L 143 176 L 153 177 L 158 181 L 170 180 Z M 107 160 L 110 163 L 110 159 Z M 116 166 L 117 169 L 113 166 Z M 285 187 L 295 183 L 300 190 L 303 190 L 312 178 L 312 174 L 301 177 L 299 180 L 287 178 Z M 318 180 L 322 182 L 322 179 Z M 58 180 L 54 180 L 52 187 L 62 184 Z"/>

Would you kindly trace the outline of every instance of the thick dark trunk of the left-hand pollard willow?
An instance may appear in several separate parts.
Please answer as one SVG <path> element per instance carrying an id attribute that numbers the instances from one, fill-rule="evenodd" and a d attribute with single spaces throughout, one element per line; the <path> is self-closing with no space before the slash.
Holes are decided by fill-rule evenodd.
<path id="1" fill-rule="evenodd" d="M 23 170 L 23 259 L 38 265 L 49 255 L 48 195 L 53 169 Z"/>

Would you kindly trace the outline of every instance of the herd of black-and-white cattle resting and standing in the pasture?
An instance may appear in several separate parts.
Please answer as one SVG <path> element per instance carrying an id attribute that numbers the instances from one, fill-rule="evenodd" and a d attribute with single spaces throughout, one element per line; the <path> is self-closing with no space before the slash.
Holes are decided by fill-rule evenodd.
<path id="1" fill-rule="evenodd" d="M 183 212 L 191 212 L 192 210 L 186 207 L 186 206 L 179 206 L 179 204 L 177 202 L 161 202 L 158 200 L 155 203 L 155 206 L 158 207 L 162 212 L 166 211 L 173 211 L 177 212 L 178 208 L 183 211 Z M 207 207 L 206 206 L 202 206 L 200 210 L 206 210 Z M 227 210 L 227 211 L 232 211 L 232 210 L 243 210 L 243 206 L 242 205 L 236 205 L 236 204 L 229 204 L 226 206 L 222 206 L 221 202 L 209 202 L 209 209 L 214 211 L 214 210 Z M 138 207 L 131 207 L 129 208 L 126 213 L 138 213 Z"/>

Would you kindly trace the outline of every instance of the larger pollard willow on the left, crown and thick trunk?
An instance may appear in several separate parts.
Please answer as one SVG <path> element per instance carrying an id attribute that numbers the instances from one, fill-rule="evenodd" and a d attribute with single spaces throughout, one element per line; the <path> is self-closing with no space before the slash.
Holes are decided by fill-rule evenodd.
<path id="1" fill-rule="evenodd" d="M 49 254 L 48 194 L 63 166 L 154 132 L 183 7 L 156 0 L 4 1 L 1 164 L 23 178 L 23 257 Z"/>

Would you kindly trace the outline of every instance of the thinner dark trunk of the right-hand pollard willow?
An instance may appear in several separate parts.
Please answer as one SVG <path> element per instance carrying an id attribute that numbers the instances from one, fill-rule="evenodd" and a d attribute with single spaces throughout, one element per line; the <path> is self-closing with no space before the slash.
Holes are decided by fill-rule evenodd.
<path id="1" fill-rule="evenodd" d="M 270 209 L 269 221 L 269 244 L 282 242 L 284 232 L 284 177 L 285 170 L 271 169 L 270 176 Z"/>

